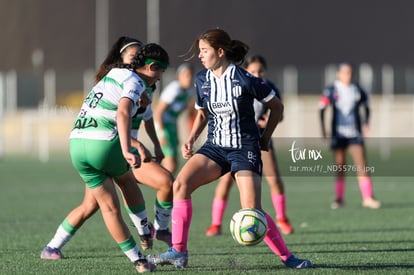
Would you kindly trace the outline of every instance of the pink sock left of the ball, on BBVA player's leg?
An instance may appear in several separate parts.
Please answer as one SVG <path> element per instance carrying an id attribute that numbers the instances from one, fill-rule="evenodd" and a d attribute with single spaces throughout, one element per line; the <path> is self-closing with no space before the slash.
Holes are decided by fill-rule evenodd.
<path id="1" fill-rule="evenodd" d="M 188 233 L 190 231 L 193 205 L 191 199 L 173 201 L 171 213 L 172 243 L 178 252 L 187 251 Z"/>

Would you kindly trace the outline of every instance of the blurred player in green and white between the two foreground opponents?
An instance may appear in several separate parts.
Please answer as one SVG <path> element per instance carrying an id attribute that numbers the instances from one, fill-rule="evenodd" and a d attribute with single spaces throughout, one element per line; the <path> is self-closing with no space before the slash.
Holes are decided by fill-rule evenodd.
<path id="1" fill-rule="evenodd" d="M 189 102 L 193 102 L 190 100 L 194 92 L 193 71 L 189 63 L 183 63 L 177 68 L 177 79 L 161 92 L 154 114 L 157 135 L 165 155 L 162 165 L 173 174 L 177 169 L 178 158 L 177 120 Z"/>

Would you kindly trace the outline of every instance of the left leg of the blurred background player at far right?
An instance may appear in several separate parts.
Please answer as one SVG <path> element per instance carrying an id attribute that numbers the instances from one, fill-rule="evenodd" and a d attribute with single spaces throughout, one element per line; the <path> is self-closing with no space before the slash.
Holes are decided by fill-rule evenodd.
<path id="1" fill-rule="evenodd" d="M 340 208 L 344 205 L 345 194 L 345 172 L 344 165 L 346 164 L 346 151 L 344 148 L 334 149 L 335 165 L 337 167 L 335 178 L 335 200 L 331 204 L 332 209 Z"/>

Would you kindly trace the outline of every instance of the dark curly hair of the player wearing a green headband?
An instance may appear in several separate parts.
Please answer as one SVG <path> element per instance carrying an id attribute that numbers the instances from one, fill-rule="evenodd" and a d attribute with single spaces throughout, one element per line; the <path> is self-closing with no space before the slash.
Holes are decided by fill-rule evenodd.
<path id="1" fill-rule="evenodd" d="M 159 67 L 166 69 L 170 63 L 170 58 L 167 51 L 160 45 L 150 43 L 139 49 L 131 64 L 123 64 L 121 67 L 135 70 L 145 66 L 145 64 L 149 64 L 150 62 L 155 62 Z"/>

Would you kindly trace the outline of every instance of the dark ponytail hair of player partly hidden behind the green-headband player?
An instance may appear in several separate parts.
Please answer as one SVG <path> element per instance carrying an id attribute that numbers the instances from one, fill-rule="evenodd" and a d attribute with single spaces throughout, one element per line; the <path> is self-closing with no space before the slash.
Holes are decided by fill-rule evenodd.
<path id="1" fill-rule="evenodd" d="M 111 50 L 106 56 L 105 60 L 99 66 L 95 75 L 95 81 L 99 82 L 113 67 L 122 63 L 122 53 L 130 46 L 141 47 L 143 43 L 138 39 L 128 36 L 121 36 L 112 45 Z"/>

